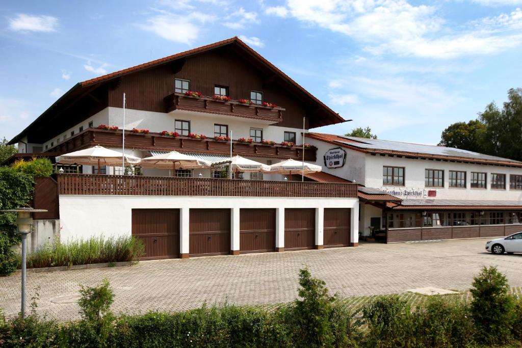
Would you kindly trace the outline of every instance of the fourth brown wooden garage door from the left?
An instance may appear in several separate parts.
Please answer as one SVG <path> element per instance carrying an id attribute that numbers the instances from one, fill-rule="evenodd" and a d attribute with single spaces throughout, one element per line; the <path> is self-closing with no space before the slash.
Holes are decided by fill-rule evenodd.
<path id="1" fill-rule="evenodd" d="M 313 249 L 315 209 L 284 209 L 284 250 Z"/>

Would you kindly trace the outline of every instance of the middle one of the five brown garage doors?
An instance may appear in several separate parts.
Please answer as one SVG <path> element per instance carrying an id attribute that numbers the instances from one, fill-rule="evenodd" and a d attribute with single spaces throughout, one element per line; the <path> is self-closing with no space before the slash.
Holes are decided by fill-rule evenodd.
<path id="1" fill-rule="evenodd" d="M 276 250 L 276 210 L 240 209 L 241 254 Z"/>

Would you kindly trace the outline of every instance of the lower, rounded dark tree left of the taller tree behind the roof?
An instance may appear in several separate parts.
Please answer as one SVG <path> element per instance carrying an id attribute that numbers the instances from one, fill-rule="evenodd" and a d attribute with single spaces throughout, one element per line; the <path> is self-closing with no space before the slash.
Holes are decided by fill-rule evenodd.
<path id="1" fill-rule="evenodd" d="M 485 132 L 486 126 L 479 119 L 472 119 L 468 123 L 457 122 L 443 130 L 438 145 L 483 153 Z"/>

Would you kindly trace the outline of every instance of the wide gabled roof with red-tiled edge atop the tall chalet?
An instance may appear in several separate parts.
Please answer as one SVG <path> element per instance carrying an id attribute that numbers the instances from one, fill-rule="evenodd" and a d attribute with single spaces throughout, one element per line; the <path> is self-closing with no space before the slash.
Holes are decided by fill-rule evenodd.
<path id="1" fill-rule="evenodd" d="M 290 78 L 287 74 L 284 74 L 283 71 L 281 71 L 279 68 L 277 68 L 274 64 L 267 61 L 262 55 L 254 51 L 250 46 L 248 46 L 246 43 L 241 41 L 238 37 L 233 37 L 227 40 L 218 41 L 215 43 L 211 43 L 205 46 L 200 46 L 192 50 L 184 51 L 181 53 L 176 53 L 164 58 L 156 59 L 151 62 L 147 62 L 144 64 L 139 64 L 127 69 L 114 71 L 113 73 L 106 74 L 100 77 L 96 77 L 93 79 L 85 80 L 78 82 L 76 85 L 74 85 L 70 90 L 68 90 L 60 99 L 58 99 L 56 102 L 54 102 L 46 111 L 44 111 L 35 121 L 33 121 L 29 126 L 27 126 L 23 131 L 21 131 L 20 134 L 18 134 L 16 137 L 11 139 L 9 141 L 9 144 L 13 144 L 17 142 L 19 139 L 21 139 L 23 136 L 26 135 L 27 131 L 30 129 L 31 126 L 34 124 L 41 122 L 42 118 L 45 117 L 45 115 L 52 113 L 55 107 L 58 107 L 61 105 L 61 103 L 67 101 L 68 99 L 75 99 L 82 95 L 82 93 L 85 93 L 86 90 L 89 88 L 96 88 L 96 86 L 102 85 L 105 82 L 109 82 L 111 80 L 117 79 L 118 77 L 122 77 L 128 74 L 135 73 L 140 70 L 149 69 L 152 67 L 159 66 L 161 64 L 170 63 L 173 61 L 176 61 L 176 59 L 182 59 L 187 58 L 192 55 L 200 54 L 203 52 L 207 52 L 210 50 L 218 49 L 219 47 L 223 47 L 226 45 L 232 45 L 235 44 L 241 49 L 243 49 L 247 54 L 250 54 L 253 58 L 255 58 L 255 61 L 259 62 L 259 64 L 262 64 L 266 69 L 270 70 L 271 73 L 273 73 L 276 76 L 279 76 L 283 81 L 287 81 L 289 83 L 289 86 L 292 88 L 295 88 L 295 90 L 303 95 L 305 99 L 310 100 L 312 103 L 317 104 L 318 108 L 323 110 L 325 112 L 325 115 L 328 115 L 327 121 L 323 122 L 323 124 L 317 124 L 313 125 L 314 127 L 319 127 L 323 125 L 329 125 L 329 124 L 336 124 L 336 123 L 342 123 L 345 122 L 345 119 L 343 119 L 341 116 L 339 116 L 338 113 L 331 110 L 326 104 L 324 104 L 322 101 L 314 97 L 310 92 L 305 90 L 302 86 L 299 85 L 299 83 L 295 82 L 292 78 Z"/>

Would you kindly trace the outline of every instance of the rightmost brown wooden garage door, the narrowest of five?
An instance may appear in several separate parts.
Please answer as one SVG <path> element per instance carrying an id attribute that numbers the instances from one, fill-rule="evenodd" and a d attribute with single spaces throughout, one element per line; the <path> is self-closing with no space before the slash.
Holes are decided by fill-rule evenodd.
<path id="1" fill-rule="evenodd" d="M 350 245 L 350 209 L 325 208 L 323 237 L 325 247 Z"/>

